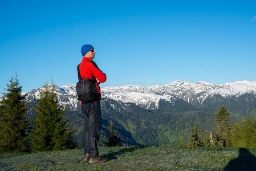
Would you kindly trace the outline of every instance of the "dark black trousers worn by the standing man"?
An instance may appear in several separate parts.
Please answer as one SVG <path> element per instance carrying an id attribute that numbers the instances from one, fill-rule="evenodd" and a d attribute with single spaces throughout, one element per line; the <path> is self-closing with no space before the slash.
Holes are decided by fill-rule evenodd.
<path id="1" fill-rule="evenodd" d="M 84 118 L 84 153 L 91 157 L 99 156 L 97 143 L 100 139 L 100 100 L 91 103 L 82 103 Z"/>

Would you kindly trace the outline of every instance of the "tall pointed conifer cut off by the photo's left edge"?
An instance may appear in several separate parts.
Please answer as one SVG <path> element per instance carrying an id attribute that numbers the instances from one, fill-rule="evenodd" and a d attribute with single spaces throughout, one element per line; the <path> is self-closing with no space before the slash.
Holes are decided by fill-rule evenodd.
<path id="1" fill-rule="evenodd" d="M 27 103 L 18 75 L 9 82 L 0 102 L 0 152 L 25 152 L 29 149 Z"/>

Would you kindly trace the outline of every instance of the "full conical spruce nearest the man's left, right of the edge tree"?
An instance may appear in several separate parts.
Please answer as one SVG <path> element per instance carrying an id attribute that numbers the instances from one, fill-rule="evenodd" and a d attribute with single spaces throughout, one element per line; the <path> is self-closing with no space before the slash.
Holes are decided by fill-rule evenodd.
<path id="1" fill-rule="evenodd" d="M 62 150 L 75 146 L 73 132 L 63 119 L 65 110 L 59 105 L 54 84 L 46 84 L 36 104 L 34 130 L 31 132 L 33 151 Z"/>

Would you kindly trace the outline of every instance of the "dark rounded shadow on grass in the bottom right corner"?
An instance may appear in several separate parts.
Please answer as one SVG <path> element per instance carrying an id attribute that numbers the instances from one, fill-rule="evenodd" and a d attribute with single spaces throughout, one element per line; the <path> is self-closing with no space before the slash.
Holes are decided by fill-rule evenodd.
<path id="1" fill-rule="evenodd" d="M 256 170 L 256 157 L 248 149 L 239 148 L 238 157 L 231 160 L 224 170 Z"/>

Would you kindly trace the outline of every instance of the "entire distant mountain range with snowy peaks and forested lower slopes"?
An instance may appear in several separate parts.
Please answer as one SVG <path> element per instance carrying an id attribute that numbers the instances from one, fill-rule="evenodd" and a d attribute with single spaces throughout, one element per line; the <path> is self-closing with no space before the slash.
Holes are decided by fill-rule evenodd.
<path id="1" fill-rule="evenodd" d="M 48 84 L 46 86 L 53 86 Z M 27 92 L 28 119 L 33 119 L 33 107 L 46 86 Z M 55 86 L 60 104 L 67 110 L 77 140 L 83 142 L 83 117 L 80 101 L 76 98 L 75 84 Z M 101 88 L 101 113 L 103 133 L 107 135 L 109 121 L 115 122 L 115 129 L 128 144 L 158 145 L 170 142 L 166 130 L 184 132 L 194 123 L 201 123 L 204 129 L 213 125 L 214 113 L 221 105 L 234 113 L 233 119 L 256 114 L 256 82 L 233 82 L 211 84 L 205 82 L 175 81 L 150 87 L 128 85 Z M 160 135 L 160 136 L 159 136 Z M 160 138 L 162 137 L 162 138 Z"/>

